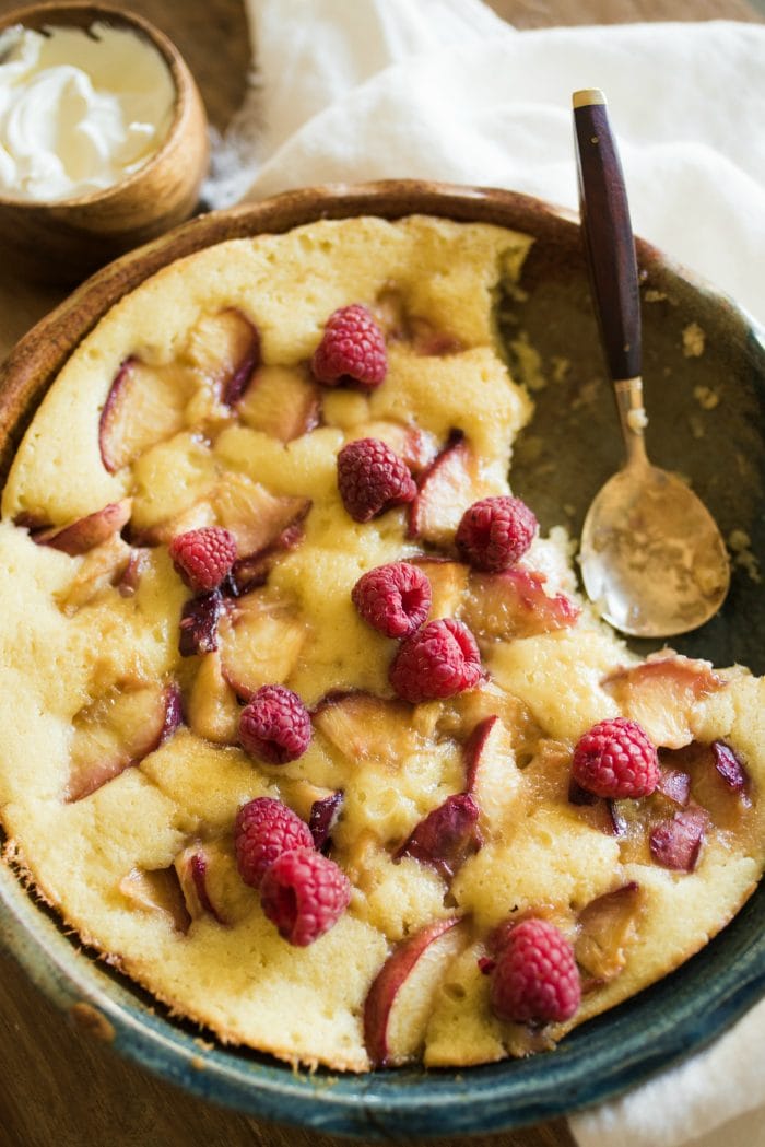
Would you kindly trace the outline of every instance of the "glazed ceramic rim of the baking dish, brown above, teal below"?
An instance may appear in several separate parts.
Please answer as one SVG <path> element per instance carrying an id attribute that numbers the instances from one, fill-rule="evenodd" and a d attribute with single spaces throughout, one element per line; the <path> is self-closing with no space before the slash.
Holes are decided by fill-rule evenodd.
<path id="1" fill-rule="evenodd" d="M 475 212 L 475 213 L 474 213 Z M 412 213 L 471 217 L 521 227 L 544 218 L 575 226 L 568 212 L 516 193 L 492 188 L 395 180 L 287 193 L 260 204 L 216 212 L 171 232 L 99 272 L 18 344 L 5 368 L 10 398 L 0 390 L 0 429 L 9 412 L 22 418 L 16 389 L 34 405 L 79 340 L 122 294 L 173 259 L 229 237 L 287 231 L 300 223 L 360 213 L 388 218 Z M 568 218 L 567 218 L 568 217 Z M 273 226 L 274 220 L 278 226 Z M 206 225 L 206 226 L 205 226 Z M 765 380 L 765 336 L 741 309 L 709 284 L 638 242 L 639 257 L 658 260 L 724 309 L 751 344 Z M 73 333 L 72 333 L 72 319 Z M 39 346 L 69 323 L 60 360 Z M 67 341 L 65 340 L 65 341 Z M 36 379 L 40 362 L 45 379 Z M 36 379 L 37 387 L 30 385 Z M 28 405 L 30 405 L 28 403 Z M 5 407 L 8 407 L 6 409 Z M 25 412 L 29 415 L 29 411 Z M 111 972 L 64 934 L 55 914 L 38 905 L 7 865 L 0 865 L 0 943 L 58 1006 L 83 1005 L 95 1029 L 143 1068 L 196 1095 L 259 1118 L 315 1131 L 384 1139 L 396 1136 L 471 1134 L 508 1130 L 570 1114 L 610 1099 L 666 1069 L 719 1036 L 765 994 L 765 885 L 734 920 L 680 969 L 576 1029 L 552 1053 L 458 1070 L 396 1069 L 365 1076 L 294 1070 L 268 1056 L 210 1047 L 193 1025 L 165 1019 L 161 1007 L 127 977 Z M 89 1009 L 89 1011 L 87 1011 Z"/>

